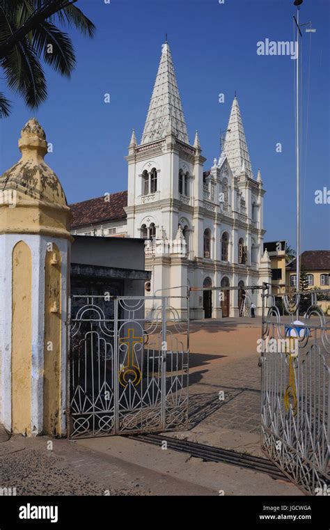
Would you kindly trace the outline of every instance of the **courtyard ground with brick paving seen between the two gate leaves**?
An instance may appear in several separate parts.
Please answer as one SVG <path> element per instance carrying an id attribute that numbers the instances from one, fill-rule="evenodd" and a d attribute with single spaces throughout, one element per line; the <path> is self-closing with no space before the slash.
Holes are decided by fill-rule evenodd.
<path id="1" fill-rule="evenodd" d="M 214 426 L 214 430 L 260 432 L 261 368 L 256 346 L 261 322 L 248 320 L 193 323 L 189 376 L 191 428 L 203 424 Z M 321 351 L 329 363 L 330 355 L 324 347 Z M 222 401 L 219 391 L 224 392 Z"/>

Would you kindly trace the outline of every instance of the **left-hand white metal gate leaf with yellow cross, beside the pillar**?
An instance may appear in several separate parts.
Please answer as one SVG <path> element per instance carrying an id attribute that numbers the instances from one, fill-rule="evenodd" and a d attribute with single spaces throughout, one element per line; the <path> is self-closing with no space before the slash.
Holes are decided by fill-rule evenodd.
<path id="1" fill-rule="evenodd" d="M 70 437 L 187 428 L 189 296 L 73 296 L 69 329 Z"/>

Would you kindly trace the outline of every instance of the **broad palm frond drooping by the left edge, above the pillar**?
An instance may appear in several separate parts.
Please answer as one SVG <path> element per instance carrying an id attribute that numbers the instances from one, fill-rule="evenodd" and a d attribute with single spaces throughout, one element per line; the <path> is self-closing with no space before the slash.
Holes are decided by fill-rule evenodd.
<path id="1" fill-rule="evenodd" d="M 47 84 L 42 66 L 27 40 L 19 42 L 1 60 L 8 86 L 20 93 L 31 109 L 47 99 Z"/>

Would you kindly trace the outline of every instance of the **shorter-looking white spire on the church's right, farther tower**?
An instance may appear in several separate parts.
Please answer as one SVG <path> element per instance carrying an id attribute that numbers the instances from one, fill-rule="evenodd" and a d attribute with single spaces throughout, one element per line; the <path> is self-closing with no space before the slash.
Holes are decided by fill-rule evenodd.
<path id="1" fill-rule="evenodd" d="M 234 176 L 239 176 L 242 168 L 250 178 L 253 178 L 249 151 L 246 145 L 246 138 L 242 122 L 241 112 L 235 96 L 231 107 L 229 123 L 226 132 L 226 139 L 223 150 L 227 155 L 230 169 Z"/>

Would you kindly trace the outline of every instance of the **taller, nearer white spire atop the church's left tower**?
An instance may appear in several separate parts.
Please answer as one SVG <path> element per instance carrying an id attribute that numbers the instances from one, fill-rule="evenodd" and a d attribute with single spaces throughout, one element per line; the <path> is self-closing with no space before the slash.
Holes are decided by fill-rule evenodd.
<path id="1" fill-rule="evenodd" d="M 171 51 L 168 42 L 165 42 L 141 143 L 166 137 L 170 121 L 175 137 L 189 143 Z"/>

